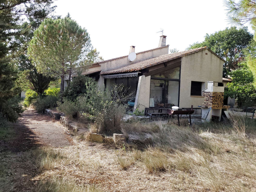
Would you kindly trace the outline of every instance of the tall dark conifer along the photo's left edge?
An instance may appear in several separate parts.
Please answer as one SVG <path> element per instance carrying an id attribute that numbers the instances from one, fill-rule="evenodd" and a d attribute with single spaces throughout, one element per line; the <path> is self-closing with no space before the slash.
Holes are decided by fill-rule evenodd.
<path id="1" fill-rule="evenodd" d="M 23 52 L 21 42 L 15 37 L 26 34 L 24 16 L 36 15 L 33 5 L 49 0 L 12 0 L 0 2 L 0 116 L 15 121 L 21 109 L 15 95 L 20 92 L 17 57 Z"/>

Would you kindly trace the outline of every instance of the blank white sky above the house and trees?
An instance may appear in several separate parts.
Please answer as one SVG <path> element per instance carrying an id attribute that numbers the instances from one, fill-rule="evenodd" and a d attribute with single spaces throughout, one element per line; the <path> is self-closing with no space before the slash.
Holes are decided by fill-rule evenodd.
<path id="1" fill-rule="evenodd" d="M 185 50 L 206 33 L 230 27 L 222 0 L 58 0 L 56 14 L 85 27 L 104 60 L 158 47 L 161 28 L 169 49 Z M 251 31 L 252 32 L 252 31 Z"/>

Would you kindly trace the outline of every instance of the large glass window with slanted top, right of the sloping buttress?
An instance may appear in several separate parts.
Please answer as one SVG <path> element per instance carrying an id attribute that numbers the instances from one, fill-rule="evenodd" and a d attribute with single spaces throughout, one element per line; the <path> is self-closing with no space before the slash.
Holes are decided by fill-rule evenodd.
<path id="1" fill-rule="evenodd" d="M 180 67 L 169 69 L 151 76 L 150 107 L 179 105 Z"/>

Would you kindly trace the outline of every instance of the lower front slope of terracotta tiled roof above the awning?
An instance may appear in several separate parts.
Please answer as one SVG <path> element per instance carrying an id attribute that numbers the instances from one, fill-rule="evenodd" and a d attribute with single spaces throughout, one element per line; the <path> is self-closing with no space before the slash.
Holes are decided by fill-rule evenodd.
<path id="1" fill-rule="evenodd" d="M 196 49 L 190 49 L 190 50 L 186 50 L 186 51 L 182 51 L 182 52 L 177 52 L 177 53 L 172 53 L 172 54 L 167 54 L 167 55 L 161 55 L 158 57 L 154 57 L 151 59 L 147 59 L 144 61 L 140 61 L 137 63 L 133 63 L 130 65 L 126 65 L 123 67 L 119 67 L 116 69 L 111 69 L 108 71 L 102 71 L 100 74 L 109 74 L 109 73 L 122 73 L 122 72 L 128 72 L 128 71 L 139 71 L 142 69 L 145 69 L 147 67 L 153 66 L 153 65 L 157 65 L 159 63 L 163 63 L 163 62 L 167 62 L 170 60 L 174 60 L 204 49 L 208 49 L 208 47 L 200 47 L 200 48 L 196 48 Z M 210 50 L 210 49 L 209 49 Z M 218 56 L 219 57 L 219 56 Z"/>

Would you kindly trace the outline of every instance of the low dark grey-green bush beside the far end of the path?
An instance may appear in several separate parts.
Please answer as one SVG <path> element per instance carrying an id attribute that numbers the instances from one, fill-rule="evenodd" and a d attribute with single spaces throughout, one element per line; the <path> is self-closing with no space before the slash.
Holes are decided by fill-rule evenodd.
<path id="1" fill-rule="evenodd" d="M 42 99 L 38 98 L 36 101 L 32 103 L 32 105 L 34 106 L 34 109 L 37 112 L 42 113 L 44 109 L 56 107 L 57 101 L 58 101 L 58 97 L 47 95 Z"/>

